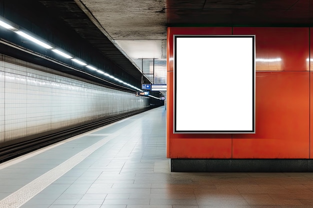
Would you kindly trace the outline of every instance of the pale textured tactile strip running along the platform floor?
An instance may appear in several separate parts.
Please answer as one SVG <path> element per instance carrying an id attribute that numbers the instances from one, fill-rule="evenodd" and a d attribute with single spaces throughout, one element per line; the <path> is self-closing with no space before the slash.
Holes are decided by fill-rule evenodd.
<path id="1" fill-rule="evenodd" d="M 29 184 L 25 185 L 24 187 L 20 188 L 16 192 L 12 193 L 11 195 L 7 196 L 3 200 L 0 201 L 0 208 L 19 208 L 35 195 L 40 193 L 43 189 L 47 186 L 52 184 L 78 163 L 80 163 L 83 159 L 88 157 L 91 153 L 95 150 L 103 146 L 109 140 L 116 137 L 120 132 L 122 132 L 125 128 L 131 128 L 131 126 L 136 125 L 136 121 L 128 124 L 127 126 L 119 129 L 115 133 L 111 134 L 110 136 L 100 140 L 99 142 L 91 145 L 90 147 L 84 149 L 83 151 L 77 153 L 67 161 L 63 162 L 62 164 L 58 165 L 57 167 L 51 169 L 50 171 L 46 172 L 45 174 L 41 175 L 37 179 L 33 180 Z"/>

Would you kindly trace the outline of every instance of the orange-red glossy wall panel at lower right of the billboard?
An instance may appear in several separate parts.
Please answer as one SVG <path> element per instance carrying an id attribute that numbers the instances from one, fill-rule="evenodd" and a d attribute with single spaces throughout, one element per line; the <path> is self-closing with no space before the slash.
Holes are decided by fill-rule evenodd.
<path id="1" fill-rule="evenodd" d="M 255 134 L 233 134 L 233 158 L 308 158 L 309 72 L 257 72 Z"/>

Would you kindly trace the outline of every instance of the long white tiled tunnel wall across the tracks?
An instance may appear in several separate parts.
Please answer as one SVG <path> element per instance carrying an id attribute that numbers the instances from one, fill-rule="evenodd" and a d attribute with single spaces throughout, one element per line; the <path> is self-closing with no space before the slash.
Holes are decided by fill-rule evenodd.
<path id="1" fill-rule="evenodd" d="M 104 88 L 44 70 L 52 71 L 1 56 L 0 142 L 149 105 L 148 99 L 136 97 L 134 93 Z"/>

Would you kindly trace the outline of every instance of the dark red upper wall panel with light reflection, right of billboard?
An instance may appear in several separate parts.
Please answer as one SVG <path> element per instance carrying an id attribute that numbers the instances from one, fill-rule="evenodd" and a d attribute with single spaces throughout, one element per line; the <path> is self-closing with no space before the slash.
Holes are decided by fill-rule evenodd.
<path id="1" fill-rule="evenodd" d="M 308 70 L 308 27 L 233 27 L 233 34 L 255 34 L 256 71 Z"/>

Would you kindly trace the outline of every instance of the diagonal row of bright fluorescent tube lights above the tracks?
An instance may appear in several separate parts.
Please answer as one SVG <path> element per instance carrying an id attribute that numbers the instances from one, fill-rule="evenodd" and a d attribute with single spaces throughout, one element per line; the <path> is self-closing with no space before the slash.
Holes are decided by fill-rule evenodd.
<path id="1" fill-rule="evenodd" d="M 28 40 L 30 40 L 30 41 L 36 43 L 36 44 L 38 44 L 38 45 L 40 45 L 40 46 L 42 46 L 42 47 L 44 47 L 44 48 L 46 48 L 46 49 L 50 49 L 51 51 L 53 51 L 53 52 L 55 52 L 55 53 L 57 53 L 57 54 L 63 56 L 64 58 L 71 59 L 72 61 L 74 61 L 75 63 L 77 63 L 77 64 L 79 64 L 79 65 L 81 65 L 81 66 L 85 66 L 85 67 L 87 67 L 88 69 L 91 69 L 91 70 L 93 70 L 93 71 L 96 71 L 96 72 L 99 73 L 99 74 L 103 74 L 104 76 L 107 76 L 107 77 L 109 77 L 109 78 L 115 80 L 115 82 L 118 82 L 118 84 L 124 84 L 124 85 L 126 85 L 126 86 L 128 86 L 128 87 L 131 87 L 131 88 L 133 88 L 133 89 L 135 89 L 135 90 L 137 90 L 137 91 L 141 91 L 141 92 L 142 92 L 141 89 L 139 89 L 139 88 L 137 88 L 137 87 L 135 87 L 135 86 L 132 86 L 132 85 L 128 84 L 127 82 L 124 82 L 124 81 L 122 81 L 122 80 L 120 80 L 120 79 L 117 79 L 116 77 L 114 77 L 114 76 L 112 76 L 112 75 L 110 75 L 110 74 L 108 74 L 108 73 L 105 73 L 104 71 L 101 71 L 101 70 L 99 70 L 99 69 L 97 69 L 97 68 L 95 68 L 95 67 L 93 67 L 93 66 L 90 66 L 90 65 L 88 65 L 87 63 L 85 63 L 84 61 L 79 60 L 79 59 L 76 59 L 76 58 L 74 58 L 72 55 L 67 54 L 67 53 L 65 53 L 65 52 L 63 52 L 63 51 L 61 51 L 61 50 L 58 50 L 58 49 L 56 49 L 55 47 L 52 47 L 51 45 L 49 45 L 49 44 L 47 44 L 47 43 L 44 43 L 44 42 L 42 42 L 41 40 L 38 40 L 38 39 L 32 37 L 31 35 L 26 34 L 26 33 L 23 32 L 23 31 L 18 30 L 17 28 L 13 27 L 12 25 L 10 25 L 10 24 L 8 24 L 8 23 L 2 21 L 2 20 L 0 20 L 0 26 L 4 27 L 5 29 L 8 29 L 8 30 L 13 31 L 13 32 L 15 32 L 16 34 L 18 34 L 18 35 L 20 35 L 20 36 L 22 36 L 22 37 L 24 37 L 24 38 L 26 38 L 26 39 L 28 39 Z"/>

